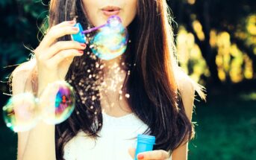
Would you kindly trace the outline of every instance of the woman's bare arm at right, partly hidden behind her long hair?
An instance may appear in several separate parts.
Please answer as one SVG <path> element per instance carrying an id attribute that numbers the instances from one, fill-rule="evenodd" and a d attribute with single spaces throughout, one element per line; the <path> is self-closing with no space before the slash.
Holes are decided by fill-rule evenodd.
<path id="1" fill-rule="evenodd" d="M 192 120 L 195 87 L 191 83 L 190 77 L 182 76 L 178 80 L 178 89 L 181 93 L 181 99 L 184 105 L 184 109 L 189 120 Z M 172 160 L 187 160 L 188 143 L 178 147 L 172 152 Z"/>

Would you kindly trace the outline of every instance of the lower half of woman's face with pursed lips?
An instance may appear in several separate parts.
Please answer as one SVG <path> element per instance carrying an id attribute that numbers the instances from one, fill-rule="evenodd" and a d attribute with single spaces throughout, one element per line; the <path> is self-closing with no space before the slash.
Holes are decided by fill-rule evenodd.
<path id="1" fill-rule="evenodd" d="M 107 18 L 117 15 L 122 25 L 130 25 L 137 13 L 137 0 L 82 0 L 90 22 L 94 26 L 103 25 Z"/>

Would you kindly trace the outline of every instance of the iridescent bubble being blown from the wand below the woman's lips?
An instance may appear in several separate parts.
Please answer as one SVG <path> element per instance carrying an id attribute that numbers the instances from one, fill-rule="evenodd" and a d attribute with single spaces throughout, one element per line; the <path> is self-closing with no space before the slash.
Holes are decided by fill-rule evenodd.
<path id="1" fill-rule="evenodd" d="M 90 41 L 92 51 L 102 60 L 111 60 L 123 54 L 127 48 L 128 32 L 122 26 L 118 16 L 107 20 L 107 25 L 99 29 L 99 33 Z"/>

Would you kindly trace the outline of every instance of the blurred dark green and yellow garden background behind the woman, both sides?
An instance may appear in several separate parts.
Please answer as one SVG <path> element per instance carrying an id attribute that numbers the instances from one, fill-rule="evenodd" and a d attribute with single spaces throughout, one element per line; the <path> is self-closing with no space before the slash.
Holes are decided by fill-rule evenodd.
<path id="1" fill-rule="evenodd" d="M 180 65 L 207 88 L 207 102 L 195 100 L 189 159 L 255 160 L 256 1 L 167 2 Z M 7 77 L 37 47 L 48 8 L 49 0 L 0 1 L 1 106 L 10 97 Z M 16 159 L 16 134 L 0 119 L 0 159 Z"/>

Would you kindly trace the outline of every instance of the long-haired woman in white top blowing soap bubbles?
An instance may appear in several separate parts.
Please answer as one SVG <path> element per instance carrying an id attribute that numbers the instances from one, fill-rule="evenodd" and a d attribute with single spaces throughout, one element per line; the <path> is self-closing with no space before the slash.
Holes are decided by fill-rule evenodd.
<path id="1" fill-rule="evenodd" d="M 78 33 L 75 16 L 88 28 L 113 14 L 128 28 L 122 57 L 99 60 L 70 39 Z M 139 133 L 154 135 L 156 144 L 138 159 L 187 159 L 195 89 L 204 94 L 175 62 L 166 1 L 51 0 L 49 30 L 34 57 L 13 71 L 13 95 L 40 97 L 49 83 L 66 80 L 75 111 L 62 124 L 19 132 L 18 159 L 133 159 Z"/>

